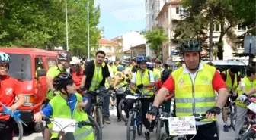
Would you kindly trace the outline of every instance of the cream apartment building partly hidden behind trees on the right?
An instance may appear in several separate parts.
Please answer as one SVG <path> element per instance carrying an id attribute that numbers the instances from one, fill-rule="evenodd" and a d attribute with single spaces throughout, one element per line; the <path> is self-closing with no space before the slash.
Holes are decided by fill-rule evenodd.
<path id="1" fill-rule="evenodd" d="M 155 20 L 157 21 L 157 26 L 162 27 L 165 30 L 166 35 L 168 35 L 168 42 L 164 42 L 162 44 L 162 54 L 163 60 L 166 58 L 171 57 L 172 61 L 179 61 L 180 57 L 178 55 L 173 55 L 174 51 L 176 50 L 176 45 L 171 42 L 171 39 L 174 39 L 174 28 L 177 25 L 175 20 L 181 20 L 181 15 L 184 14 L 184 8 L 180 5 L 181 0 L 168 0 L 163 5 L 162 9 L 159 11 Z M 245 33 L 246 28 L 242 27 L 241 24 L 233 28 L 236 35 L 242 35 Z M 209 32 L 209 31 L 206 31 Z M 213 30 L 213 43 L 218 42 L 220 36 L 220 24 L 214 24 Z M 234 52 L 232 50 L 232 44 L 229 42 L 227 36 L 224 36 L 223 39 L 224 43 L 224 59 L 244 59 L 244 58 L 235 58 L 232 56 Z M 215 49 L 215 48 L 213 48 Z M 226 52 L 226 53 L 225 53 Z M 238 48 L 238 52 L 243 52 L 243 48 Z"/>

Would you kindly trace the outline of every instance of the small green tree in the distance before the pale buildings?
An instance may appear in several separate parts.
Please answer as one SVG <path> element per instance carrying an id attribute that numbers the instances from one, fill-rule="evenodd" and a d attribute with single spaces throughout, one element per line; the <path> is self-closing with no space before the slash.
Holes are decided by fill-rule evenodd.
<path id="1" fill-rule="evenodd" d="M 149 44 L 149 48 L 159 57 L 162 54 L 162 43 L 168 41 L 165 31 L 160 27 L 153 26 L 152 30 L 142 31 L 142 34 L 146 38 L 146 44 Z"/>

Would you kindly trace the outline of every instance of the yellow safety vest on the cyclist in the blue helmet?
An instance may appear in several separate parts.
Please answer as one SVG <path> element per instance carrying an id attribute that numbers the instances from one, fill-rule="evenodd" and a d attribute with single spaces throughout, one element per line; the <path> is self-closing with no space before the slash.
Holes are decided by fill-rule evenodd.
<path id="1" fill-rule="evenodd" d="M 136 83 L 135 83 L 136 86 L 138 86 L 140 84 L 149 84 L 149 83 L 150 83 L 149 70 L 148 69 L 144 70 L 143 77 L 141 74 L 141 70 L 138 70 L 136 72 Z M 151 98 L 154 95 L 154 92 L 152 92 L 152 87 L 149 87 L 149 88 L 143 87 L 142 89 L 139 89 L 139 90 L 140 90 L 140 92 L 142 92 L 145 95 L 150 95 L 147 98 Z M 135 93 L 134 90 L 132 90 L 131 92 L 133 94 Z"/>

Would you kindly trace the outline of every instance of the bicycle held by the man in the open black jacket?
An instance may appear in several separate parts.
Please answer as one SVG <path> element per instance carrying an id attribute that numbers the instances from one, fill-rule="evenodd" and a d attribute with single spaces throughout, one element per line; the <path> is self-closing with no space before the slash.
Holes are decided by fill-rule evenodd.
<path id="1" fill-rule="evenodd" d="M 107 89 L 97 89 L 95 91 L 88 91 L 87 94 L 93 95 L 91 99 L 91 116 L 96 120 L 98 125 L 102 128 L 103 127 L 103 103 L 104 103 L 104 94 L 108 94 Z"/>

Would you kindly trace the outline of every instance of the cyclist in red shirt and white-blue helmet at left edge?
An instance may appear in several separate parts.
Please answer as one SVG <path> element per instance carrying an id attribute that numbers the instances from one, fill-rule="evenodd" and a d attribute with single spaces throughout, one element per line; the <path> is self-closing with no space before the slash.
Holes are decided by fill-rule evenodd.
<path id="1" fill-rule="evenodd" d="M 7 74 L 10 61 L 11 58 L 8 54 L 0 52 L 0 102 L 11 111 L 15 111 L 24 104 L 25 97 L 18 80 Z M 18 98 L 16 103 L 14 103 L 15 96 Z M 0 107 L 0 110 L 3 111 L 4 108 Z M 0 115 L 0 135 L 2 140 L 14 138 L 14 120 L 9 115 Z"/>

